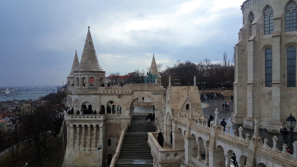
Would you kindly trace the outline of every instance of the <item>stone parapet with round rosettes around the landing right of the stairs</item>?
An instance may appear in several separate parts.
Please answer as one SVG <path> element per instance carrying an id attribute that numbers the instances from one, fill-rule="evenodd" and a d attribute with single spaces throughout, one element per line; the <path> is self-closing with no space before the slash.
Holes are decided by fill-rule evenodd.
<path id="1" fill-rule="evenodd" d="M 149 135 L 149 146 L 153 155 L 156 156 L 158 162 L 164 164 L 178 164 L 180 160 L 184 159 L 185 149 L 164 149 L 160 146 L 157 141 L 158 133 L 148 133 Z"/>

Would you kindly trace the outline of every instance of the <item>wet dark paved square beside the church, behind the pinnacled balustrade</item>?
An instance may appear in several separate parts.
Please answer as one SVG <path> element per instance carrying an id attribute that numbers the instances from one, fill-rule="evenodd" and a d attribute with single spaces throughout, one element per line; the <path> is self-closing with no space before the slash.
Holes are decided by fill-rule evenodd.
<path id="1" fill-rule="evenodd" d="M 209 114 L 211 113 L 214 117 L 214 111 L 216 108 L 218 108 L 219 110 L 219 123 L 223 120 L 223 118 L 225 119 L 225 121 L 227 122 L 227 124 L 230 125 L 230 134 L 233 134 L 233 129 L 236 130 L 236 135 L 239 136 L 239 127 L 242 127 L 242 125 L 234 125 L 231 123 L 231 113 L 233 112 L 233 102 L 229 103 L 229 109 L 224 109 L 222 108 L 222 103 L 226 102 L 226 101 L 230 101 L 230 97 L 225 97 L 225 100 L 222 99 L 215 99 L 215 100 L 202 100 L 202 103 L 207 103 L 209 105 L 209 107 L 203 108 L 203 113 L 205 117 L 208 117 Z M 227 132 L 227 130 L 226 130 Z M 254 130 L 252 129 L 247 129 L 247 128 L 243 128 L 243 138 L 245 138 L 245 134 L 249 133 L 250 137 L 252 137 Z M 282 150 L 282 143 L 283 143 L 283 137 L 281 134 L 279 133 L 270 133 L 267 132 L 267 129 L 259 129 L 259 133 L 260 136 L 262 138 L 267 138 L 268 139 L 268 144 L 269 146 L 273 146 L 273 141 L 272 141 L 272 137 L 273 136 L 277 136 L 278 141 L 277 141 L 277 147 L 279 150 Z M 297 138 L 296 133 L 294 133 L 294 137 Z"/>

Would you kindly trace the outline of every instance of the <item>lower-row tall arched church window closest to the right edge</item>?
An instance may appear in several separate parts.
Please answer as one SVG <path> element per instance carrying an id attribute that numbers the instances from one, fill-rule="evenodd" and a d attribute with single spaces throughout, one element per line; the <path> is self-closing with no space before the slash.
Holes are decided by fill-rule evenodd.
<path id="1" fill-rule="evenodd" d="M 293 46 L 287 48 L 287 87 L 296 87 L 296 49 Z"/>

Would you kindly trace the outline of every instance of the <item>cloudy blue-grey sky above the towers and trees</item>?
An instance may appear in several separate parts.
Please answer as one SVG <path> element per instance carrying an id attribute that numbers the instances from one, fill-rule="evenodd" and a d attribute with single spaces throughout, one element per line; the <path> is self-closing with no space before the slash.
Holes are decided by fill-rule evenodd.
<path id="1" fill-rule="evenodd" d="M 121 75 L 157 63 L 231 60 L 243 0 L 0 1 L 0 86 L 62 85 L 88 26 L 99 63 Z"/>

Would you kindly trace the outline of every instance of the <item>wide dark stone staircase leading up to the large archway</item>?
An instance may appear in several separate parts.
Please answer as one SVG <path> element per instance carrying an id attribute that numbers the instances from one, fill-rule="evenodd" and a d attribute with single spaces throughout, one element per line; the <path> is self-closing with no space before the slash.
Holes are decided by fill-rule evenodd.
<path id="1" fill-rule="evenodd" d="M 116 167 L 153 167 L 148 132 L 155 132 L 154 121 L 146 122 L 146 115 L 133 115 L 125 134 Z"/>

